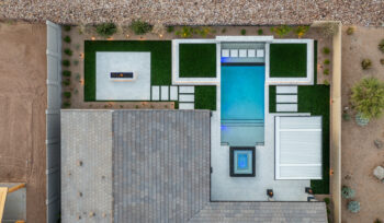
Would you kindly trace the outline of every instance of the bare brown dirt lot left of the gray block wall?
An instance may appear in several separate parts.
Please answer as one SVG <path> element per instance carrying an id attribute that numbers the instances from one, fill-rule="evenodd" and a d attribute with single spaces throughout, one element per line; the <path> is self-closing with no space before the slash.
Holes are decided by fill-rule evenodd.
<path id="1" fill-rule="evenodd" d="M 46 221 L 46 26 L 0 22 L 0 181 L 26 181 L 26 221 Z"/>

